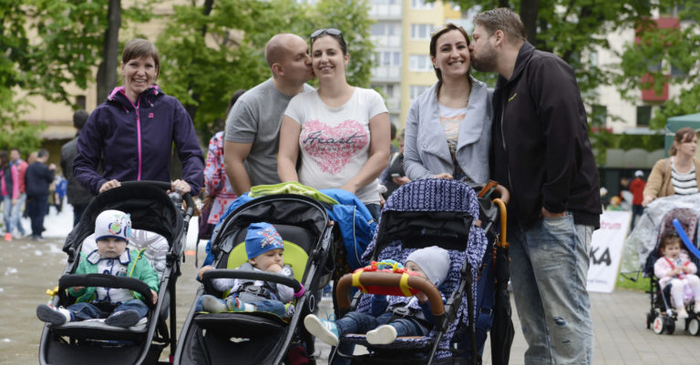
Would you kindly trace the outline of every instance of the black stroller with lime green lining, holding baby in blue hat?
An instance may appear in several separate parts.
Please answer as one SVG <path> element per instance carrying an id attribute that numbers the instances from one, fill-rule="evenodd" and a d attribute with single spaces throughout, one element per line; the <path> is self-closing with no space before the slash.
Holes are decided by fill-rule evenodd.
<path id="1" fill-rule="evenodd" d="M 253 222 L 273 224 L 284 240 L 284 263 L 291 265 L 294 279 L 282 275 L 235 270 L 246 261 L 245 236 Z M 306 356 L 314 353 L 314 339 L 299 330 L 299 319 L 314 311 L 314 293 L 333 249 L 333 224 L 324 206 L 312 198 L 280 194 L 253 199 L 236 208 L 215 229 L 211 238 L 214 255 L 211 269 L 204 273 L 203 285 L 195 303 L 203 294 L 223 298 L 212 288 L 211 279 L 260 279 L 283 283 L 304 294 L 293 303 L 289 321 L 269 313 L 206 313 L 193 305 L 180 333 L 175 353 L 176 364 L 279 364 L 293 341 L 304 344 Z M 311 360 L 313 361 L 313 360 Z"/>

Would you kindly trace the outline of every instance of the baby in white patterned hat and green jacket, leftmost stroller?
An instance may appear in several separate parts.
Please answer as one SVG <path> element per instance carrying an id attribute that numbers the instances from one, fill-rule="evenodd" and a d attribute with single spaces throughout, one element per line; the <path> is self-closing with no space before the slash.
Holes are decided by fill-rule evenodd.
<path id="1" fill-rule="evenodd" d="M 129 215 L 114 209 L 103 211 L 95 221 L 95 234 L 98 248 L 81 257 L 76 274 L 102 273 L 139 279 L 149 286 L 155 304 L 158 274 L 140 251 L 127 249 L 131 236 Z M 36 307 L 36 317 L 54 325 L 106 317 L 107 325 L 129 328 L 149 312 L 141 295 L 129 289 L 73 287 L 68 293 L 77 298 L 77 303 L 67 308 L 41 304 Z"/>

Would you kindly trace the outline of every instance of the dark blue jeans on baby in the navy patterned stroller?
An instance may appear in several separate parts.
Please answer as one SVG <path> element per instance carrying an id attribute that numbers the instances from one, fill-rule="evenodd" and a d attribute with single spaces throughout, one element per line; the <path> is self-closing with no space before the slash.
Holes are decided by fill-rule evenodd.
<path id="1" fill-rule="evenodd" d="M 335 320 L 338 333 L 367 333 L 377 327 L 388 324 L 396 329 L 396 337 L 401 336 L 425 336 L 427 330 L 420 326 L 415 319 L 402 318 L 389 322 L 394 313 L 386 312 L 379 317 L 370 316 L 366 313 L 351 311 L 345 314 L 342 319 Z"/>

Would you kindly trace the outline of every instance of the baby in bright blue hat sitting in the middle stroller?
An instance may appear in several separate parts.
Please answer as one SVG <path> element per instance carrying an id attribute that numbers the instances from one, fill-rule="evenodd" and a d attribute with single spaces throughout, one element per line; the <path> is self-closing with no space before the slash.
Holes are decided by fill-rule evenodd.
<path id="1" fill-rule="evenodd" d="M 273 225 L 259 222 L 248 227 L 245 236 L 245 253 L 248 262 L 237 270 L 267 271 L 293 278 L 289 265 L 284 265 L 284 242 Z M 200 276 L 213 267 L 200 270 Z M 289 304 L 294 290 L 286 285 L 251 279 L 218 278 L 211 281 L 214 289 L 228 293 L 226 299 L 205 294 L 198 301 L 197 309 L 210 313 L 264 311 L 280 318 L 289 318 L 293 306 Z"/>

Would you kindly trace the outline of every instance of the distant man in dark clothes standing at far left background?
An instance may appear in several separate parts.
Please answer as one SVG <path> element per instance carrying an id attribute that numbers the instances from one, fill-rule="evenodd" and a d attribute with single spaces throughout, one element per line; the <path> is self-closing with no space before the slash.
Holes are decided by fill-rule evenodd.
<path id="1" fill-rule="evenodd" d="M 32 240 L 40 240 L 48 210 L 48 186 L 54 181 L 56 165 L 46 167 L 48 151 L 39 150 L 36 161 L 26 167 L 26 210 L 32 220 Z"/>

